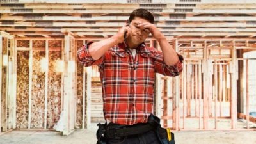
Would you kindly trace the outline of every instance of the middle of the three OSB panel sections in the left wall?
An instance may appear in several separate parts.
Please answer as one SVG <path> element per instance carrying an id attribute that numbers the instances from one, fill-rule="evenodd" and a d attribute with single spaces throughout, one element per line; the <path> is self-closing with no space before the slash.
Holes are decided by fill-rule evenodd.
<path id="1" fill-rule="evenodd" d="M 44 128 L 45 72 L 40 67 L 42 58 L 45 58 L 45 51 L 33 51 L 31 128 Z"/>

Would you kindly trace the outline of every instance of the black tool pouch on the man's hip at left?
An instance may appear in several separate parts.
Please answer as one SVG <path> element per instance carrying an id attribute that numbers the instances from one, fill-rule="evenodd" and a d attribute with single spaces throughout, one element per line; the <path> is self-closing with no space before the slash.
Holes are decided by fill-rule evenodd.
<path id="1" fill-rule="evenodd" d="M 97 124 L 97 126 L 99 127 L 96 133 L 97 136 L 97 144 L 106 144 L 107 143 L 107 138 L 106 138 L 106 127 L 107 124 Z"/>

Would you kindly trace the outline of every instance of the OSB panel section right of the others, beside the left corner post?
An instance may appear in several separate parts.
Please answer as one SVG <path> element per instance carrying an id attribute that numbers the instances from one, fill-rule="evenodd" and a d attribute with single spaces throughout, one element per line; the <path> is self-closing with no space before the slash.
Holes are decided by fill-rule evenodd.
<path id="1" fill-rule="evenodd" d="M 56 61 L 61 51 L 49 51 L 47 128 L 52 128 L 61 114 L 61 72 L 56 72 Z"/>

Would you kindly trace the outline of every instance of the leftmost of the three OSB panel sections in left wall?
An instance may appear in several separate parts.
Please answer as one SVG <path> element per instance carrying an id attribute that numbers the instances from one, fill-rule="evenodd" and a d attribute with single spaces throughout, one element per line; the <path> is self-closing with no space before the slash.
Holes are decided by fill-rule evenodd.
<path id="1" fill-rule="evenodd" d="M 28 128 L 29 51 L 17 52 L 17 128 Z"/>

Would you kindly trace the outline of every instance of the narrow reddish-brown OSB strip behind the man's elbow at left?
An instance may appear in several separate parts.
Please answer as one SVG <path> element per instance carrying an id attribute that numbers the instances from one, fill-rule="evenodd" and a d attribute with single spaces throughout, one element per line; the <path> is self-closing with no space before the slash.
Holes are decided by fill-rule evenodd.
<path id="1" fill-rule="evenodd" d="M 77 49 L 82 47 L 82 45 L 83 45 L 83 40 L 78 40 Z M 77 100 L 76 102 L 77 102 L 76 103 L 76 125 L 78 127 L 82 127 L 82 124 L 83 124 L 83 65 L 81 65 L 81 63 L 79 62 L 77 62 Z"/>

